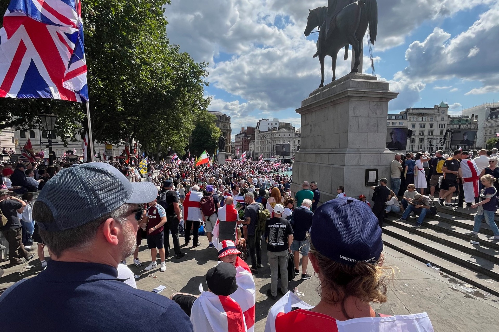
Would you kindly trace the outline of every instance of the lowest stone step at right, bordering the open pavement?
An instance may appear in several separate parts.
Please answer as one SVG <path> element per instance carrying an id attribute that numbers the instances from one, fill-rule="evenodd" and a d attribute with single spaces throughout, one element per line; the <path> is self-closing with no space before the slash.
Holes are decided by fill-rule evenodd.
<path id="1" fill-rule="evenodd" d="M 404 242 L 388 234 L 388 232 L 383 233 L 383 242 L 386 246 L 400 251 L 401 253 L 413 257 L 423 263 L 431 263 L 432 265 L 438 266 L 442 272 L 454 278 L 463 280 L 470 285 L 478 287 L 495 296 L 499 296 L 499 283 L 496 280 L 490 280 L 490 278 L 486 275 L 476 273 L 445 258 Z M 445 275 L 443 276 L 445 277 Z"/>

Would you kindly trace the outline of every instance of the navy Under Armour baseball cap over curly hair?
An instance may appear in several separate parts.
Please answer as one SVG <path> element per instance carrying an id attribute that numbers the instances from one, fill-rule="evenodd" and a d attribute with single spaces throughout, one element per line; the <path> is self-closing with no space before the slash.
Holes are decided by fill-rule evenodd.
<path id="1" fill-rule="evenodd" d="M 383 251 L 378 219 L 367 204 L 339 197 L 314 212 L 310 240 L 317 251 L 342 264 L 375 263 Z"/>

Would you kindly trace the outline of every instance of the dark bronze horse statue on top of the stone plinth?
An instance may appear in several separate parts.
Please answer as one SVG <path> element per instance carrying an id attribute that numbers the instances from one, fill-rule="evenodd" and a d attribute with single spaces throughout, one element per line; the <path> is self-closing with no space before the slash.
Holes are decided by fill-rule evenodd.
<path id="1" fill-rule="evenodd" d="M 349 1 L 347 1 L 348 3 Z M 336 5 L 337 6 L 337 5 Z M 315 27 L 319 27 L 317 53 L 319 57 L 321 81 L 319 88 L 324 86 L 324 58 L 329 55 L 333 65 L 333 80 L 336 79 L 336 56 L 341 48 L 345 48 L 344 60 L 348 58 L 348 48 L 352 45 L 355 52 L 355 62 L 351 73 L 359 72 L 360 54 L 362 54 L 362 40 L 369 26 L 371 43 L 374 45 L 378 27 L 378 3 L 376 0 L 358 0 L 335 8 L 335 16 L 331 17 L 328 7 L 308 9 L 305 36 L 309 36 Z M 328 16 L 329 15 L 329 16 Z"/>

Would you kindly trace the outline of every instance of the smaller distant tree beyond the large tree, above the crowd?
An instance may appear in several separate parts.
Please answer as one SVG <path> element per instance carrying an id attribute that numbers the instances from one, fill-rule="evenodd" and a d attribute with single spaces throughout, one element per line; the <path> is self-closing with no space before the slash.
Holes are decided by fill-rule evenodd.
<path id="1" fill-rule="evenodd" d="M 196 122 L 196 128 L 192 132 L 191 154 L 199 156 L 204 150 L 212 155 L 218 147 L 220 128 L 215 124 L 216 116 L 208 111 L 202 111 Z"/>

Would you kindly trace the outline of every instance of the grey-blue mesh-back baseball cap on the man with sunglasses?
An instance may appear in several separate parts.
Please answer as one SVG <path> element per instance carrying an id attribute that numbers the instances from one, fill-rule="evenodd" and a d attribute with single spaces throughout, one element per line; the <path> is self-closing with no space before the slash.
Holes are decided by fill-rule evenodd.
<path id="1" fill-rule="evenodd" d="M 112 165 L 81 164 L 63 169 L 43 186 L 36 202 L 48 206 L 55 222 L 36 222 L 46 231 L 71 229 L 96 220 L 124 203 L 149 203 L 157 196 L 153 183 L 132 183 Z M 33 208 L 36 209 L 36 203 Z"/>

